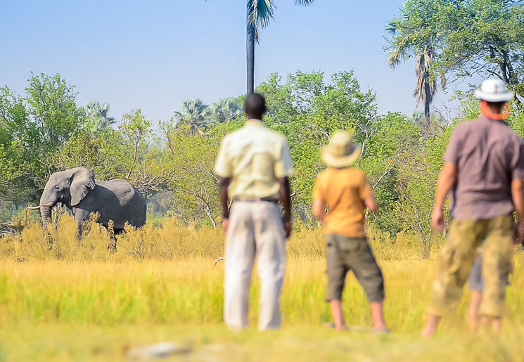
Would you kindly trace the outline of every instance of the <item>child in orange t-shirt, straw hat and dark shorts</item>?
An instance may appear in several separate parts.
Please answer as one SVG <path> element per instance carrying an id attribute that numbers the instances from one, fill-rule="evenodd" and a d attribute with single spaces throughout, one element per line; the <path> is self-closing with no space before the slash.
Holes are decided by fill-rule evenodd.
<path id="1" fill-rule="evenodd" d="M 366 175 L 350 168 L 361 147 L 352 136 L 337 131 L 331 143 L 321 150 L 328 165 L 319 174 L 313 190 L 313 213 L 325 224 L 328 291 L 326 300 L 337 330 L 346 330 L 342 312 L 342 292 L 348 271 L 364 287 L 373 317 L 374 332 L 389 332 L 385 325 L 384 279 L 366 239 L 364 209 L 376 212 L 377 205 Z M 327 206 L 328 212 L 324 212 Z"/>

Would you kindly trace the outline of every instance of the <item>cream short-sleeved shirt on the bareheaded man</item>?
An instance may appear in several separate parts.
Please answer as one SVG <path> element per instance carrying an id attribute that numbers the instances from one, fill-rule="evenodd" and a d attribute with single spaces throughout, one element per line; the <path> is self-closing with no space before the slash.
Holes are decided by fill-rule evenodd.
<path id="1" fill-rule="evenodd" d="M 231 178 L 230 198 L 279 198 L 277 179 L 292 174 L 293 164 L 284 137 L 262 121 L 248 119 L 222 140 L 215 172 Z"/>

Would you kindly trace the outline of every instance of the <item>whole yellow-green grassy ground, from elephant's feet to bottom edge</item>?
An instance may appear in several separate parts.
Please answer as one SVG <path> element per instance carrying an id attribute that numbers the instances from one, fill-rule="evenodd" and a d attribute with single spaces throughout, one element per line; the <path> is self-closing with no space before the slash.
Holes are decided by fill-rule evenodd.
<path id="1" fill-rule="evenodd" d="M 0 360 L 122 360 L 135 347 L 177 342 L 181 361 L 522 361 L 524 356 L 524 254 L 516 252 L 500 337 L 467 330 L 468 292 L 437 336 L 420 337 L 435 277 L 439 244 L 421 259 L 416 238 L 370 233 L 386 280 L 390 335 L 373 335 L 366 298 L 351 276 L 344 294 L 350 332 L 326 327 L 321 230 L 298 226 L 288 240 L 281 295 L 281 330 L 257 332 L 256 271 L 251 290 L 252 327 L 222 323 L 224 267 L 220 230 L 195 231 L 175 219 L 129 230 L 108 254 L 97 226 L 77 243 L 70 216 L 51 231 L 49 247 L 39 224 L 20 238 L 0 239 Z"/>

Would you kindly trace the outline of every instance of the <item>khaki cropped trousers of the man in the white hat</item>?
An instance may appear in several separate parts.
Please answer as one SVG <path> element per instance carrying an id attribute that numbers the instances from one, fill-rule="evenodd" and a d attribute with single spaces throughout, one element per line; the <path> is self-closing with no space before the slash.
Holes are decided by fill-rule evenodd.
<path id="1" fill-rule="evenodd" d="M 504 299 L 513 257 L 513 216 L 488 220 L 457 220 L 449 225 L 449 235 L 440 254 L 437 280 L 429 313 L 442 316 L 458 304 L 462 288 L 483 248 L 480 265 L 484 280 L 480 314 L 499 318 L 504 314 Z"/>

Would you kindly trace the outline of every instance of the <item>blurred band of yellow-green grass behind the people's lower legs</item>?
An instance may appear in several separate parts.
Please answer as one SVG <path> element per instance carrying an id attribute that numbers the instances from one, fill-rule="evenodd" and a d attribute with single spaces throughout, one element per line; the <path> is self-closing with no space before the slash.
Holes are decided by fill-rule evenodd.
<path id="1" fill-rule="evenodd" d="M 508 316 L 524 323 L 524 255 L 508 290 Z M 172 261 L 7 261 L 0 265 L 0 325 L 17 323 L 219 323 L 223 264 L 193 257 Z M 436 262 L 381 261 L 386 285 L 385 315 L 396 331 L 421 328 Z M 325 261 L 288 259 L 281 295 L 284 323 L 320 325 L 330 320 L 324 301 Z M 256 276 L 256 271 L 255 271 Z M 256 319 L 258 278 L 251 289 Z M 348 323 L 370 325 L 366 297 L 351 276 L 345 287 Z M 464 327 L 467 300 L 459 307 Z M 454 321 L 456 325 L 456 321 Z"/>

